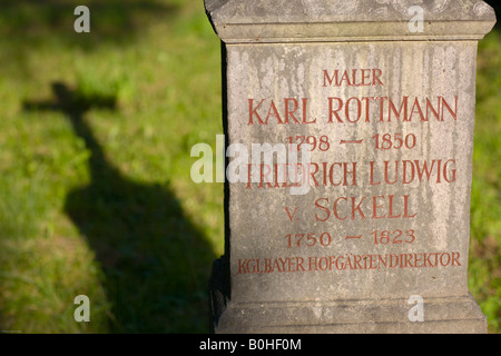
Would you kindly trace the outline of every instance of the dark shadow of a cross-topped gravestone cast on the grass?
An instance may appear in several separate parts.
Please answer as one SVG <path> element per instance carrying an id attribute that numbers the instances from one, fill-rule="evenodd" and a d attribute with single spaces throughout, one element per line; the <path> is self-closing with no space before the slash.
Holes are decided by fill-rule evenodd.
<path id="1" fill-rule="evenodd" d="M 60 110 L 90 150 L 90 185 L 70 191 L 65 209 L 106 275 L 118 333 L 206 333 L 207 286 L 215 259 L 168 187 L 135 182 L 115 168 L 85 113 L 115 109 L 114 97 L 82 97 L 52 85 L 55 100 L 24 102 L 27 110 Z"/>

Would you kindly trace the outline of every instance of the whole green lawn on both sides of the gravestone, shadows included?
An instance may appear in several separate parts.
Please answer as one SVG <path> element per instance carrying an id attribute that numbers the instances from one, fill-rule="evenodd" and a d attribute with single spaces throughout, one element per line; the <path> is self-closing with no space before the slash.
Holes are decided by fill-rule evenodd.
<path id="1" fill-rule="evenodd" d="M 0 4 L 0 330 L 206 333 L 223 185 L 190 179 L 223 134 L 202 0 Z M 501 330 L 501 31 L 480 43 L 470 288 Z M 76 323 L 87 295 L 90 323 Z"/>

